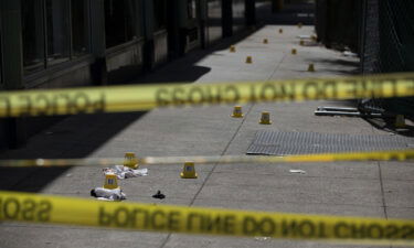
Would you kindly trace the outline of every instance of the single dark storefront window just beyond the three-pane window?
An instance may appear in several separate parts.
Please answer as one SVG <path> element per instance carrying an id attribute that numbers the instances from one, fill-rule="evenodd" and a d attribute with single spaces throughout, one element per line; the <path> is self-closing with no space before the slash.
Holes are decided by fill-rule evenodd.
<path id="1" fill-rule="evenodd" d="M 106 47 L 134 39 L 134 0 L 105 0 Z"/>

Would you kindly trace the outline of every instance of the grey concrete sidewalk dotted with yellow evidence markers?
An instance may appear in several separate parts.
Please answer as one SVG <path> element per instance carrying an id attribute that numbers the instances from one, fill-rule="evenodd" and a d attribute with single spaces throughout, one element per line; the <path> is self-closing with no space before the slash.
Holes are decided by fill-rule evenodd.
<path id="1" fill-rule="evenodd" d="M 278 33 L 280 28 L 283 34 Z M 220 46 L 210 53 L 195 52 L 140 80 L 203 84 L 354 73 L 357 58 L 319 45 L 298 45 L 297 35 L 311 35 L 312 29 L 266 25 L 236 43 L 236 53 Z M 268 39 L 269 44 L 263 44 L 263 39 Z M 291 48 L 297 48 L 298 54 L 291 55 Z M 246 56 L 253 57 L 253 64 L 245 64 Z M 316 73 L 307 72 L 309 63 L 315 63 Z M 351 104 L 250 104 L 243 106 L 243 119 L 230 117 L 233 106 L 74 116 L 31 139 L 26 148 L 1 158 L 119 158 L 127 151 L 139 157 L 244 155 L 258 130 L 390 136 L 359 118 L 314 116 L 318 106 Z M 273 125 L 258 125 L 262 111 L 270 112 Z M 293 174 L 290 169 L 306 174 Z M 410 163 L 197 164 L 198 180 L 180 179 L 181 170 L 182 164 L 150 166 L 148 176 L 120 181 L 120 185 L 128 202 L 414 218 L 414 166 Z M 6 176 L 11 173 L 20 176 Z M 3 190 L 87 198 L 93 187 L 103 184 L 99 168 L 11 170 L 0 176 Z M 164 200 L 151 197 L 158 190 L 166 194 Z M 0 247 L 351 246 L 4 223 L 0 226 Z"/>

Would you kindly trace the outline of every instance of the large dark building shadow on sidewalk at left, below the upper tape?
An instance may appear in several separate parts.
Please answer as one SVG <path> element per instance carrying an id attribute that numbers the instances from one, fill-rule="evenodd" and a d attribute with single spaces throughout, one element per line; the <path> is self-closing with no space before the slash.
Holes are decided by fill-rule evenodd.
<path id="1" fill-rule="evenodd" d="M 84 158 L 147 112 L 73 116 L 0 159 Z M 0 191 L 40 192 L 71 168 L 0 168 Z"/>

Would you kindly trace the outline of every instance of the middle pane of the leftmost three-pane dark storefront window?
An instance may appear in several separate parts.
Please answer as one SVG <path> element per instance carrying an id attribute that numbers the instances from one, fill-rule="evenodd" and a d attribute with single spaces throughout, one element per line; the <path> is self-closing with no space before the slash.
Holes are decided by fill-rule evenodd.
<path id="1" fill-rule="evenodd" d="M 47 64 L 70 58 L 70 11 L 67 0 L 46 0 Z"/>

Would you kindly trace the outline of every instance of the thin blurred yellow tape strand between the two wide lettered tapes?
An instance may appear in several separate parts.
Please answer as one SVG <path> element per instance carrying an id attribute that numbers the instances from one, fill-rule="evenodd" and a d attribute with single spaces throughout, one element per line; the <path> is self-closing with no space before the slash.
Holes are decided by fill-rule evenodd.
<path id="1" fill-rule="evenodd" d="M 414 160 L 414 149 L 395 151 L 320 153 L 285 157 L 263 155 L 210 155 L 210 157 L 145 157 L 138 158 L 138 164 L 182 164 L 192 161 L 197 164 L 211 163 L 299 163 L 299 162 L 340 162 L 340 161 L 405 161 Z M 0 160 L 0 166 L 110 166 L 123 164 L 120 158 L 88 159 L 35 159 L 35 160 Z"/>

